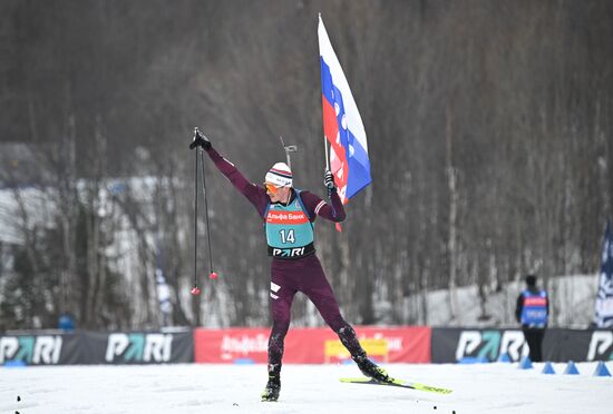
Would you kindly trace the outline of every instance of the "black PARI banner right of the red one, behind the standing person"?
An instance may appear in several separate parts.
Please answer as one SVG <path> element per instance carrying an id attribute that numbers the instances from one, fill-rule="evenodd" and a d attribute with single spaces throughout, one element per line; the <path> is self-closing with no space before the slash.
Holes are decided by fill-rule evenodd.
<path id="1" fill-rule="evenodd" d="M 456 363 L 464 358 L 497 361 L 506 354 L 513 362 L 528 355 L 520 329 L 432 328 L 432 362 Z M 613 331 L 548 328 L 543 339 L 543 359 L 611 361 Z"/>

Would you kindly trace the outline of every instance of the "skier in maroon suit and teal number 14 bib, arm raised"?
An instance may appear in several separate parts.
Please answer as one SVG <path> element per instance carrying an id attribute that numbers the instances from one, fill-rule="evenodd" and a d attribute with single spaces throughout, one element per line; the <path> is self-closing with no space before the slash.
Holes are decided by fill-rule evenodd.
<path id="1" fill-rule="evenodd" d="M 279 398 L 283 343 L 290 327 L 292 302 L 298 292 L 302 292 L 315 305 L 366 376 L 389 382 L 386 371 L 367 357 L 356 331 L 342 318 L 332 287 L 315 256 L 315 218 L 320 216 L 334 223 L 346 218 L 332 174 L 325 171 L 324 175 L 330 205 L 310 191 L 293 188 L 292 171 L 284 162 L 276 162 L 266 172 L 264 184 L 259 186 L 247 180 L 212 147 L 206 136 L 196 130 L 191 148 L 197 146 L 208 154 L 217 169 L 250 200 L 264 223 L 269 256 L 272 256 L 270 305 L 273 326 L 267 348 L 269 381 L 262 401 Z"/>

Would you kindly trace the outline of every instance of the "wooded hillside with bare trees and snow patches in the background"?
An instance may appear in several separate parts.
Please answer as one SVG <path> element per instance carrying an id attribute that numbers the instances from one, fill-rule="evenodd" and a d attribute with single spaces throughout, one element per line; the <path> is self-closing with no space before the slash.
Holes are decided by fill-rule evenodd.
<path id="1" fill-rule="evenodd" d="M 159 326 L 157 267 L 167 323 L 266 324 L 261 223 L 211 162 L 221 277 L 206 279 L 201 241 L 203 295 L 189 295 L 187 146 L 198 126 L 262 183 L 284 160 L 281 136 L 299 147 L 295 185 L 325 194 L 319 12 L 372 169 L 343 231 L 317 225 L 349 321 L 380 323 L 386 303 L 386 322 L 428 324 L 425 295 L 447 288 L 451 324 L 461 286 L 485 303 L 527 272 L 553 286 L 599 270 L 613 218 L 611 1 L 2 0 L 0 223 L 19 237 L 0 245 L 0 328 L 53 327 L 61 312 L 84 328 Z M 303 298 L 293 314 L 322 323 Z"/>

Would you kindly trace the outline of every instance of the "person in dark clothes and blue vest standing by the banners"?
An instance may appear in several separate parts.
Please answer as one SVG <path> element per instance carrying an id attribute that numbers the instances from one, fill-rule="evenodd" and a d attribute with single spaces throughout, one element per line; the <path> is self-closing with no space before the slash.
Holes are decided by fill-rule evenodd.
<path id="1" fill-rule="evenodd" d="M 528 343 L 529 356 L 534 362 L 543 361 L 542 344 L 549 316 L 549 299 L 544 289 L 536 287 L 536 276 L 526 276 L 526 289 L 517 297 L 515 317 L 522 324 Z"/>

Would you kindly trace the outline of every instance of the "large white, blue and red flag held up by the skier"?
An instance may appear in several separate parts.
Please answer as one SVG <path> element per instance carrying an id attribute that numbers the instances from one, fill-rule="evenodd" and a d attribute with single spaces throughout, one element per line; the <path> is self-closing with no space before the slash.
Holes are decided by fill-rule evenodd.
<path id="1" fill-rule="evenodd" d="M 370 160 L 364 126 L 341 65 L 319 18 L 323 134 L 330 142 L 330 170 L 343 203 L 368 186 Z"/>

